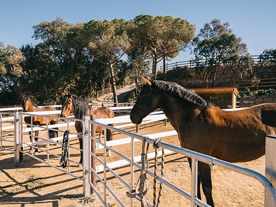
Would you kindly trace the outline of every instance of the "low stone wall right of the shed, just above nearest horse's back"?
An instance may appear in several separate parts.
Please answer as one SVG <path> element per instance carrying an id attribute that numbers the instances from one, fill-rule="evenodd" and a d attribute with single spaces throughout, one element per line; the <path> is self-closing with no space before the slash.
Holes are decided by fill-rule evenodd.
<path id="1" fill-rule="evenodd" d="M 237 100 L 239 101 L 239 100 Z M 276 94 L 249 96 L 240 98 L 240 107 L 249 107 L 261 103 L 276 103 Z"/>

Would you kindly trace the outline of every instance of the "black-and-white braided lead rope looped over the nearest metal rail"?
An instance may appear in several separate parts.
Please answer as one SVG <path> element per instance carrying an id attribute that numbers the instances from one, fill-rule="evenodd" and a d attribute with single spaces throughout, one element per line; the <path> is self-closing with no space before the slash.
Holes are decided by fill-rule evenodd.
<path id="1" fill-rule="evenodd" d="M 152 207 L 155 207 L 155 203 L 156 203 L 157 149 L 159 148 L 159 146 L 157 146 L 157 145 L 158 145 L 159 142 L 163 142 L 163 140 L 162 139 L 156 139 L 152 144 L 152 147 L 155 149 L 154 179 L 153 179 L 153 205 L 152 205 Z M 164 152 L 164 148 L 162 148 L 161 178 L 164 177 L 164 157 L 165 157 L 165 152 Z M 161 193 L 162 193 L 162 182 L 160 182 L 160 186 L 159 186 L 159 195 L 158 195 L 158 198 L 157 198 L 156 207 L 158 207 L 159 204 L 160 204 Z"/>

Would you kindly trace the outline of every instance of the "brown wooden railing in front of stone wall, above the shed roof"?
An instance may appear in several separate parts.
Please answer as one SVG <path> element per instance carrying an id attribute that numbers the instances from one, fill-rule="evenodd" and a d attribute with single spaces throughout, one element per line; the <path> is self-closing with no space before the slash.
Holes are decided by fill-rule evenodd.
<path id="1" fill-rule="evenodd" d="M 236 88 L 259 88 L 276 87 L 276 78 L 257 78 L 247 80 L 233 80 L 233 87 Z"/>

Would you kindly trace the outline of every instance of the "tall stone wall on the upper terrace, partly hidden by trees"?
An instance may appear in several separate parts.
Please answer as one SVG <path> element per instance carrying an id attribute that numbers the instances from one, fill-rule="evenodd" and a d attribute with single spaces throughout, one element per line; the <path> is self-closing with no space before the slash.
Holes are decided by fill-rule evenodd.
<path id="1" fill-rule="evenodd" d="M 189 69 L 190 75 L 192 78 L 190 80 L 181 80 L 179 84 L 185 88 L 206 88 L 206 84 L 203 81 L 203 78 L 200 75 L 195 73 L 194 68 Z M 258 78 L 270 78 L 276 77 L 276 66 L 265 66 L 263 69 L 257 71 L 256 73 Z M 233 87 L 233 80 L 246 80 L 251 79 L 249 74 L 241 74 L 239 71 L 233 71 L 226 67 L 221 67 L 216 73 L 216 79 L 214 87 Z M 208 79 L 209 87 L 212 84 L 212 79 Z"/>

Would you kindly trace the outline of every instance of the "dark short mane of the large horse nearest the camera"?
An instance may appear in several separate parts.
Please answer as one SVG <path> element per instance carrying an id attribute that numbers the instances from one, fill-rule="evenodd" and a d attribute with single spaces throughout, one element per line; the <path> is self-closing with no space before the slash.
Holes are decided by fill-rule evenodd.
<path id="1" fill-rule="evenodd" d="M 151 86 L 153 88 L 155 87 L 165 93 L 185 99 L 186 101 L 191 102 L 191 103 L 198 105 L 200 107 L 203 107 L 203 108 L 209 108 L 209 107 L 215 106 L 213 103 L 205 101 L 198 94 L 195 94 L 192 91 L 185 89 L 184 87 L 176 84 L 175 82 L 152 80 Z"/>

